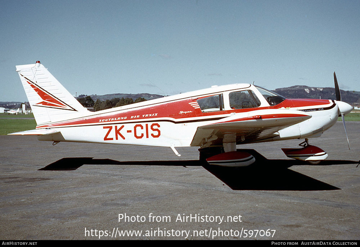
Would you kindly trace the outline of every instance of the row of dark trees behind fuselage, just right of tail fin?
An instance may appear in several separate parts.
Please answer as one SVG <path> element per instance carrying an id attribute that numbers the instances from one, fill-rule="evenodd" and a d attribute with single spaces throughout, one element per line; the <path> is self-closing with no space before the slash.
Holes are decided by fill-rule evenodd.
<path id="1" fill-rule="evenodd" d="M 77 98 L 78 102 L 82 104 L 84 107 L 94 107 L 95 111 L 100 111 L 104 109 L 109 109 L 113 107 L 119 107 L 122 105 L 129 105 L 133 103 L 138 103 L 145 101 L 144 98 L 137 98 L 135 101 L 131 98 L 113 98 L 113 99 L 107 99 L 104 101 L 101 101 L 100 99 L 97 99 L 96 102 L 94 102 L 93 98 L 90 96 L 80 97 Z"/>

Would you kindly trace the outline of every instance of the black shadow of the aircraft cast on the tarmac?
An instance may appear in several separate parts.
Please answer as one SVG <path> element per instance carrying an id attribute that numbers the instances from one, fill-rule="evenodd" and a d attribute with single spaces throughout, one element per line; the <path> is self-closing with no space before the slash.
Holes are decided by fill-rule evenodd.
<path id="1" fill-rule="evenodd" d="M 91 157 L 62 158 L 39 170 L 76 170 L 82 165 L 138 165 L 138 166 L 202 166 L 233 190 L 337 190 L 340 188 L 288 169 L 291 166 L 309 165 L 298 160 L 269 160 L 254 149 L 241 149 L 251 153 L 256 161 L 247 167 L 208 165 L 206 161 L 116 161 Z M 358 164 L 358 161 L 326 160 L 319 165 Z"/>

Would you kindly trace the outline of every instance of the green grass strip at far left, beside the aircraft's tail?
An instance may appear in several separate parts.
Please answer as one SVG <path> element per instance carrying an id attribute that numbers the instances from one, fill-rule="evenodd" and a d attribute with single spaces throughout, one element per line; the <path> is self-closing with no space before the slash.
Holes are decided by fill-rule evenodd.
<path id="1" fill-rule="evenodd" d="M 33 130 L 35 127 L 35 119 L 0 118 L 0 135 L 7 135 L 9 133 L 24 130 Z"/>

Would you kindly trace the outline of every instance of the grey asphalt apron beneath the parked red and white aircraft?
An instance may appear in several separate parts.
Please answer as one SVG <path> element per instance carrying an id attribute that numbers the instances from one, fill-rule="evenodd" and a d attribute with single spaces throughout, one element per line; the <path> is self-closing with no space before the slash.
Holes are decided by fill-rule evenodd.
<path id="1" fill-rule="evenodd" d="M 323 164 L 289 160 L 280 148 L 302 140 L 288 140 L 238 146 L 266 157 L 245 169 L 205 169 L 197 148 L 0 136 L 0 238 L 359 239 L 360 122 L 346 124 L 351 151 L 341 122 L 310 139 Z"/>

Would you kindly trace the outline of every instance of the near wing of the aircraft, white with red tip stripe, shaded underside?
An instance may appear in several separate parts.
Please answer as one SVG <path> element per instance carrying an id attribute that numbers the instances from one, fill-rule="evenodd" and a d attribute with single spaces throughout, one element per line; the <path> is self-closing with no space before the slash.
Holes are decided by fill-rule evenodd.
<path id="1" fill-rule="evenodd" d="M 192 146 L 222 146 L 224 138 L 236 136 L 237 144 L 259 142 L 273 138 L 277 131 L 311 118 L 302 111 L 288 109 L 262 109 L 235 113 L 218 122 L 199 126 L 192 140 Z"/>

